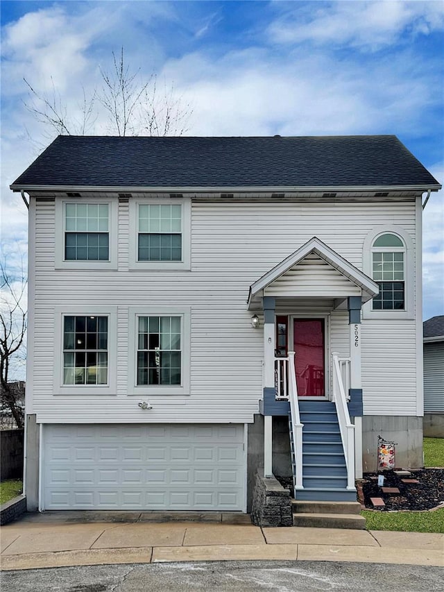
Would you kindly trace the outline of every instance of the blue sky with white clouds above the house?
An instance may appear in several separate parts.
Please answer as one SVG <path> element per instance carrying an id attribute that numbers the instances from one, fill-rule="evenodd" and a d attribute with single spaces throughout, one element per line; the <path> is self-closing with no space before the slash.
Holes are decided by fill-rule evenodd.
<path id="1" fill-rule="evenodd" d="M 1 243 L 26 255 L 8 185 L 51 132 L 24 78 L 74 119 L 124 48 L 191 105 L 186 135 L 395 134 L 444 180 L 443 1 L 1 1 Z M 97 116 L 94 133 L 107 133 Z M 444 314 L 443 192 L 424 212 L 423 318 Z"/>

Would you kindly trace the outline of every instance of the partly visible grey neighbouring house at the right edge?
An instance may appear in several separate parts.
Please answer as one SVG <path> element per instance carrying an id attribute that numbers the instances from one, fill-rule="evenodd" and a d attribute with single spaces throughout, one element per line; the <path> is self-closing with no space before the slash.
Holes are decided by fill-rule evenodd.
<path id="1" fill-rule="evenodd" d="M 444 315 L 424 321 L 424 435 L 444 438 Z"/>

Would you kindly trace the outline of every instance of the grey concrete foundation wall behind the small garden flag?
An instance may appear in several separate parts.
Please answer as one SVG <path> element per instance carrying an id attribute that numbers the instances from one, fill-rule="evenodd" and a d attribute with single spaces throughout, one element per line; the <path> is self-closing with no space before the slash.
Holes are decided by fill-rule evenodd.
<path id="1" fill-rule="evenodd" d="M 422 457 L 422 417 L 364 415 L 362 418 L 364 473 L 377 471 L 378 436 L 396 443 L 396 466 L 404 468 L 424 466 Z"/>

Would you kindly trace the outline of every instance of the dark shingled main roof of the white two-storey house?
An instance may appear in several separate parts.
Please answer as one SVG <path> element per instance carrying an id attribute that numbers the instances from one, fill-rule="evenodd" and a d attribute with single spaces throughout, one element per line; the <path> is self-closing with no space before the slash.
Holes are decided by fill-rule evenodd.
<path id="1" fill-rule="evenodd" d="M 438 181 L 394 135 L 58 136 L 11 185 L 32 189 L 412 187 Z"/>

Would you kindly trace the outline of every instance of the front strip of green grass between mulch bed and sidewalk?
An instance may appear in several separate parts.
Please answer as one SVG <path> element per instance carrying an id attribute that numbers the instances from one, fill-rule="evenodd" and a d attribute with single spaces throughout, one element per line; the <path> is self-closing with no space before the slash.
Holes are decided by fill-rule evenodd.
<path id="1" fill-rule="evenodd" d="M 361 511 L 367 530 L 444 532 L 444 508 L 434 511 Z"/>

